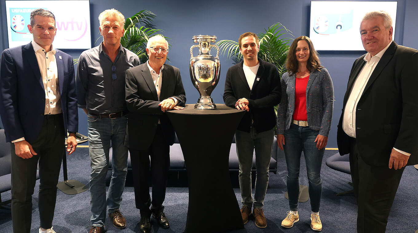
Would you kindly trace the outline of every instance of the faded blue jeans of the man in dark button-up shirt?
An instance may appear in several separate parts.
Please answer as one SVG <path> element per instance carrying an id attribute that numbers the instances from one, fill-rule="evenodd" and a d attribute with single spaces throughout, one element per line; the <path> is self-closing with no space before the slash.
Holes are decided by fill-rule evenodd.
<path id="1" fill-rule="evenodd" d="M 127 173 L 128 148 L 123 145 L 127 119 L 88 116 L 90 174 L 90 208 L 92 225 L 104 226 L 106 206 L 109 213 L 119 209 Z M 112 179 L 106 198 L 106 174 L 112 143 Z"/>

